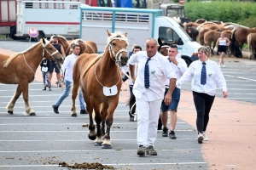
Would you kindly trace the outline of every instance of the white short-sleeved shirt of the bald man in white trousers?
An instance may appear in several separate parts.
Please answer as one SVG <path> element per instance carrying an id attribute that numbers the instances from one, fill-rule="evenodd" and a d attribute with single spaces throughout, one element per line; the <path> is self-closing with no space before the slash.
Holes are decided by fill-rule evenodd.
<path id="1" fill-rule="evenodd" d="M 148 59 L 146 51 L 132 54 L 128 63 L 135 65 L 137 63 L 137 78 L 133 87 L 133 94 L 137 99 L 145 101 L 154 101 L 163 99 L 165 93 L 166 79 L 176 78 L 172 65 L 163 55 L 156 53 L 149 61 L 149 88 L 144 87 L 145 63 Z M 143 97 L 143 98 L 142 98 Z"/>

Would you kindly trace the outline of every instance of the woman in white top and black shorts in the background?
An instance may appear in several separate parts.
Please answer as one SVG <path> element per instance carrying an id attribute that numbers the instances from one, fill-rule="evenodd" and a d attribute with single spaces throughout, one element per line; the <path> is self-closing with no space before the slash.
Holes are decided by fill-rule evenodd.
<path id="1" fill-rule="evenodd" d="M 230 46 L 230 40 L 227 37 L 224 37 L 224 32 L 221 32 L 220 37 L 217 40 L 218 45 L 218 55 L 219 55 L 219 67 L 225 67 L 224 65 L 224 56 L 227 53 L 227 46 Z"/>

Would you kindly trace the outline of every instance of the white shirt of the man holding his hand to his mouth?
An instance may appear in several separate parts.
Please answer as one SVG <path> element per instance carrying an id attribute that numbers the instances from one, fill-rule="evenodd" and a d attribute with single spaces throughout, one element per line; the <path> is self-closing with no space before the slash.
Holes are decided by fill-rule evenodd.
<path id="1" fill-rule="evenodd" d="M 166 59 L 169 61 L 168 58 L 169 57 L 166 56 Z M 176 59 L 177 59 L 177 65 L 175 65 L 172 62 L 171 62 L 171 65 L 172 65 L 172 70 L 175 72 L 177 80 L 178 80 L 178 79 L 180 79 L 180 77 L 182 77 L 183 73 L 188 70 L 188 66 L 187 66 L 186 61 L 184 59 L 180 58 L 178 55 L 176 56 Z M 167 88 L 169 88 L 169 82 L 170 82 L 170 80 L 166 79 L 166 87 Z M 181 85 L 178 85 L 177 88 L 181 89 Z"/>

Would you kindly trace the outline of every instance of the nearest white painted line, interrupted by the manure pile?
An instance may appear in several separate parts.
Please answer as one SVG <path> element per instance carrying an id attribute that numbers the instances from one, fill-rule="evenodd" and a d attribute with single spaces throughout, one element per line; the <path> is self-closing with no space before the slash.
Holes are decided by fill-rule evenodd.
<path id="1" fill-rule="evenodd" d="M 198 165 L 198 164 L 207 164 L 207 162 L 173 162 L 173 163 L 112 163 L 112 164 L 104 164 L 107 166 L 135 166 L 135 165 L 146 165 L 146 166 L 154 166 L 154 165 Z M 59 165 L 2 165 L 0 167 L 61 167 Z M 63 167 L 64 168 L 64 167 Z M 128 168 L 129 169 L 129 168 Z"/>

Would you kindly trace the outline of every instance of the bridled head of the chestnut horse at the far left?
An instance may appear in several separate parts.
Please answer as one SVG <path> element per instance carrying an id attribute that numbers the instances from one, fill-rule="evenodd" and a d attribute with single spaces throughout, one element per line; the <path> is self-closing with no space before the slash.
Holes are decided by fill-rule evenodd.
<path id="1" fill-rule="evenodd" d="M 43 45 L 43 57 L 54 60 L 55 62 L 62 62 L 62 55 L 59 51 L 44 37 L 40 40 Z"/>

